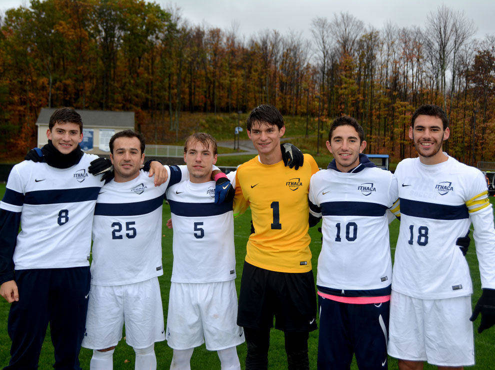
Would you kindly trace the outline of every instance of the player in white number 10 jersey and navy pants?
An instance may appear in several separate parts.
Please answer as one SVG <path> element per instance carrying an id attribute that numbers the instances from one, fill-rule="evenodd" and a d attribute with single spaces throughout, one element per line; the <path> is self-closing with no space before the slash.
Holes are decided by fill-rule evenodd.
<path id="1" fill-rule="evenodd" d="M 360 369 L 386 368 L 392 277 L 387 209 L 398 209 L 397 184 L 362 154 L 366 141 L 354 118 L 331 123 L 326 147 L 334 159 L 309 184 L 310 211 L 323 217 L 318 368 L 349 368 L 353 353 Z"/>

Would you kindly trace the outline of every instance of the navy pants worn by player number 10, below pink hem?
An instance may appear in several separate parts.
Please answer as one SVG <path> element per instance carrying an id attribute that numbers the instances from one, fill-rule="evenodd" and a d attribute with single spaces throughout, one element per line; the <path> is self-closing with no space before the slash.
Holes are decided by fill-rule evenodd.
<path id="1" fill-rule="evenodd" d="M 341 303 L 318 295 L 318 369 L 386 369 L 390 302 Z"/>

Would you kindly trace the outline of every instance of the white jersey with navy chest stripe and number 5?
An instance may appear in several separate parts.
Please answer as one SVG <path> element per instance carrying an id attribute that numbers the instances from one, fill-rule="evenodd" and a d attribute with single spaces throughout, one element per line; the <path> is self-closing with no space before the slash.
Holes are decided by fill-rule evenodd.
<path id="1" fill-rule="evenodd" d="M 234 183 L 235 172 L 227 177 Z M 166 192 L 173 225 L 172 282 L 235 278 L 232 202 L 214 203 L 215 182 L 182 181 Z"/>

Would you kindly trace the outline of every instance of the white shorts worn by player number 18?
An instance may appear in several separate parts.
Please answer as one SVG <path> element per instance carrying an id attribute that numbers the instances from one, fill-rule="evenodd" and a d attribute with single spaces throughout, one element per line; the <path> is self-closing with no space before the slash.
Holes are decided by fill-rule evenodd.
<path id="1" fill-rule="evenodd" d="M 392 290 L 388 354 L 437 366 L 474 364 L 471 297 L 419 299 Z"/>

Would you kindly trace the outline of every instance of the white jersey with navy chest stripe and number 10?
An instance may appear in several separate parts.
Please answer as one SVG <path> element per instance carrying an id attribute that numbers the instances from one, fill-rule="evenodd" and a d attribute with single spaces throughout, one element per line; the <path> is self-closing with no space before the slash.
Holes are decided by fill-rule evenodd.
<path id="1" fill-rule="evenodd" d="M 310 212 L 323 218 L 316 284 L 344 290 L 342 295 L 387 288 L 392 271 L 386 210 L 397 199 L 393 175 L 377 167 L 323 169 L 312 175 L 308 196 Z M 370 293 L 384 294 L 389 291 Z"/>

